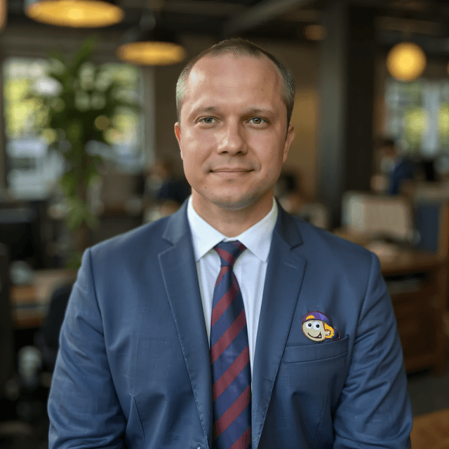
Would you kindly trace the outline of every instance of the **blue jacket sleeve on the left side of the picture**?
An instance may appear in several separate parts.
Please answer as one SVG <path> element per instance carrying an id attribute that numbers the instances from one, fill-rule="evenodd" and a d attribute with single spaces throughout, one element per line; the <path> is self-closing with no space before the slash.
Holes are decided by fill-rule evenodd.
<path id="1" fill-rule="evenodd" d="M 126 426 L 109 370 L 86 250 L 69 298 L 48 397 L 49 449 L 122 448 Z"/>

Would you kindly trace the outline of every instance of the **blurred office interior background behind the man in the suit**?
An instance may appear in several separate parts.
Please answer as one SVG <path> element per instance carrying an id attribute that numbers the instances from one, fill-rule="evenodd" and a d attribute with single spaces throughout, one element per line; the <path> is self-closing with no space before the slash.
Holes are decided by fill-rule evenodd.
<path id="1" fill-rule="evenodd" d="M 177 76 L 240 36 L 295 78 L 279 203 L 380 258 L 413 447 L 449 448 L 447 1 L 117 0 L 104 2 L 116 8 L 109 25 L 62 9 L 48 23 L 42 3 L 0 0 L 0 447 L 48 447 L 46 395 L 80 254 L 189 196 Z M 173 60 L 126 51 L 159 40 L 177 43 Z"/>

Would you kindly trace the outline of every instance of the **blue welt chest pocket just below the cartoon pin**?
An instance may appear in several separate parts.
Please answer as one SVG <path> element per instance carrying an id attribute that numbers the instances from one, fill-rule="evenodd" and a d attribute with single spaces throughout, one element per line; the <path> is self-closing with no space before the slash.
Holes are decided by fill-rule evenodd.
<path id="1" fill-rule="evenodd" d="M 288 346 L 283 351 L 284 363 L 319 361 L 344 356 L 348 351 L 349 338 L 304 346 Z"/>

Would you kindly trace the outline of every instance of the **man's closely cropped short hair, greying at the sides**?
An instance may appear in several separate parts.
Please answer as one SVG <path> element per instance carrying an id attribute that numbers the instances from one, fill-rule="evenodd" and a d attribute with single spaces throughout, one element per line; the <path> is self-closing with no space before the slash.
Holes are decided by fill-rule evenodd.
<path id="1" fill-rule="evenodd" d="M 219 43 L 215 43 L 215 45 L 207 48 L 205 51 L 195 56 L 188 62 L 188 64 L 182 69 L 182 72 L 177 79 L 176 83 L 176 111 L 177 111 L 177 119 L 180 121 L 181 116 L 181 107 L 182 102 L 184 100 L 185 91 L 187 87 L 187 79 L 189 77 L 190 72 L 192 71 L 192 67 L 206 56 L 220 56 L 225 54 L 232 54 L 236 57 L 239 56 L 250 56 L 252 58 L 268 58 L 271 60 L 276 68 L 278 69 L 279 74 L 281 75 L 282 81 L 282 100 L 287 107 L 287 126 L 290 123 L 290 119 L 293 113 L 293 105 L 295 103 L 295 83 L 293 81 L 293 76 L 281 61 L 275 58 L 271 53 L 268 53 L 263 48 L 255 45 L 255 43 L 247 41 L 246 39 L 236 38 L 236 39 L 226 39 L 225 41 L 221 41 Z"/>

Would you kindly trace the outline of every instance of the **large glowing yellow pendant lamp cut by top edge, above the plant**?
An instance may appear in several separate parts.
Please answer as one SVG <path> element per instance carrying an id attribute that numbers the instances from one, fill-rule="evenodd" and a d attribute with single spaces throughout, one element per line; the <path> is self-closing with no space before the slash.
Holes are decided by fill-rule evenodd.
<path id="1" fill-rule="evenodd" d="M 36 22 L 77 28 L 108 27 L 125 15 L 112 0 L 25 0 L 25 13 Z"/>

